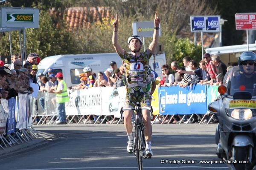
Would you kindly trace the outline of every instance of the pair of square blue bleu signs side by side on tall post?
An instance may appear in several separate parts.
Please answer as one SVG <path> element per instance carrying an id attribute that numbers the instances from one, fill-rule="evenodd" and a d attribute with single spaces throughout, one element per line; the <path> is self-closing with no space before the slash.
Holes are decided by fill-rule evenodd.
<path id="1" fill-rule="evenodd" d="M 191 16 L 191 31 L 219 32 L 220 16 Z"/>

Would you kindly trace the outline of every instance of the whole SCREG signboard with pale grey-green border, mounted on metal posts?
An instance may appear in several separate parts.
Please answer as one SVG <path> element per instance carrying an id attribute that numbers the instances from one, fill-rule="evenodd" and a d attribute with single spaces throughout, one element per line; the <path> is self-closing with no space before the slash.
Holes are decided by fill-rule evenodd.
<path id="1" fill-rule="evenodd" d="M 0 27 L 8 28 L 38 28 L 38 8 L 1 7 Z"/>

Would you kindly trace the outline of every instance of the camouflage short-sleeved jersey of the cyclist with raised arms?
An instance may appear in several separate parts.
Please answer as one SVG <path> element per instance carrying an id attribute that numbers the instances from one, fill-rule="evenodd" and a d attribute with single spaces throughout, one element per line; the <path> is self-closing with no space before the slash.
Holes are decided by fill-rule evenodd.
<path id="1" fill-rule="evenodd" d="M 152 54 L 146 50 L 137 57 L 124 50 L 119 56 L 123 60 L 127 88 L 146 87 L 147 66 Z"/>

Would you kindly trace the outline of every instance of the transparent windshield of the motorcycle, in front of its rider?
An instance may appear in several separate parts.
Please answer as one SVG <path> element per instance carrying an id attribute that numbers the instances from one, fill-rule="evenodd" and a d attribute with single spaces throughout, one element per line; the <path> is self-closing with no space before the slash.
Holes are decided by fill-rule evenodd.
<path id="1" fill-rule="evenodd" d="M 239 65 L 230 68 L 223 79 L 223 85 L 227 88 L 227 94 L 233 96 L 235 93 L 250 93 L 256 96 L 256 67 L 253 65 Z"/>

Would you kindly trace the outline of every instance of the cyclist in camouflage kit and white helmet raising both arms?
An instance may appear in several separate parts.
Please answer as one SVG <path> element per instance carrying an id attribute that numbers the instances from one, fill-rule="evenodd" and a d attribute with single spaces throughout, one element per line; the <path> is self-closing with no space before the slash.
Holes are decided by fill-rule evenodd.
<path id="1" fill-rule="evenodd" d="M 113 37 L 112 43 L 116 50 L 116 53 L 123 60 L 123 66 L 125 68 L 125 77 L 127 81 L 127 93 L 125 98 L 125 104 L 123 108 L 131 108 L 136 105 L 136 102 L 140 102 L 140 106 L 150 107 L 151 101 L 147 92 L 146 73 L 147 65 L 150 57 L 152 56 L 158 42 L 159 37 L 159 24 L 160 17 L 157 17 L 155 13 L 154 19 L 154 34 L 153 41 L 149 45 L 148 49 L 144 52 L 140 52 L 143 41 L 140 36 L 133 35 L 128 38 L 128 46 L 131 49 L 131 53 L 127 53 L 121 45 L 118 43 L 118 15 L 116 14 L 116 20 L 113 22 Z M 132 124 L 131 116 L 133 111 L 124 111 L 124 125 L 128 135 L 128 153 L 133 153 L 133 136 L 132 136 Z M 146 139 L 146 151 L 145 156 L 151 157 L 153 153 L 151 151 L 151 119 L 150 111 L 142 111 L 144 123 L 145 123 L 145 139 Z"/>

